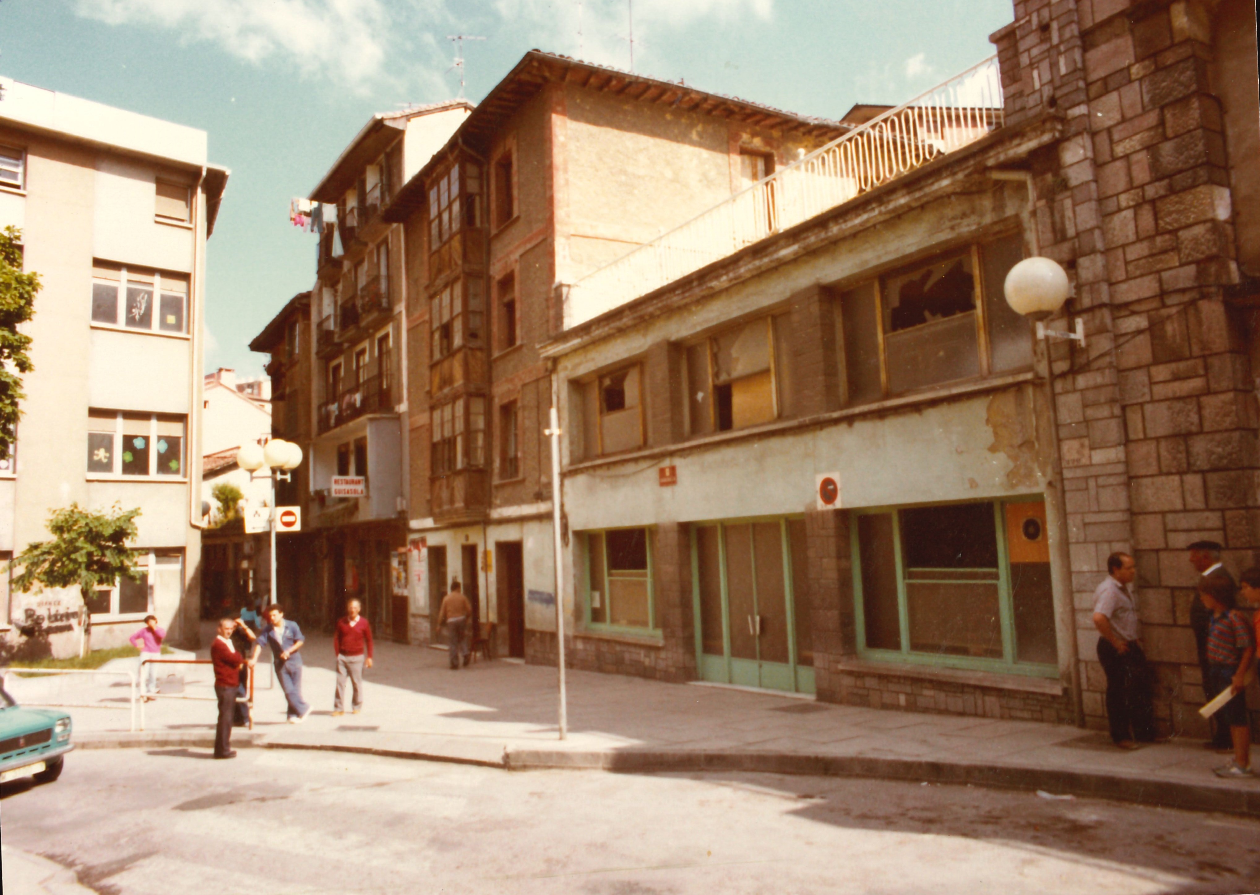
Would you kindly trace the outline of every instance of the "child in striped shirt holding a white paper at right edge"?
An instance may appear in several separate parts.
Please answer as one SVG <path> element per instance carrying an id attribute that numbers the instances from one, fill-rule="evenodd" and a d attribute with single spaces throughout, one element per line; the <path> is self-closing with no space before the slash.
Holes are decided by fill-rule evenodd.
<path id="1" fill-rule="evenodd" d="M 1201 579 L 1198 599 L 1212 613 L 1207 628 L 1207 680 L 1205 690 L 1211 700 L 1226 689 L 1234 699 L 1217 710 L 1221 724 L 1230 726 L 1234 760 L 1216 768 L 1217 777 L 1251 777 L 1251 725 L 1247 721 L 1246 675 L 1255 657 L 1251 624 L 1237 611 L 1234 583 L 1223 577 Z"/>

